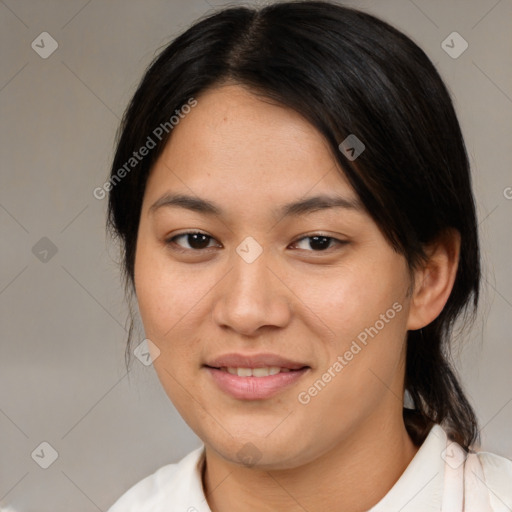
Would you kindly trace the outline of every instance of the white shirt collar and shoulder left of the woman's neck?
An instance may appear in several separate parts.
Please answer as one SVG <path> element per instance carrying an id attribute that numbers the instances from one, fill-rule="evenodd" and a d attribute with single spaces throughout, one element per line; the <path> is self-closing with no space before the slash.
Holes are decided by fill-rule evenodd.
<path id="1" fill-rule="evenodd" d="M 198 471 L 204 447 L 190 452 L 176 464 L 161 467 L 123 494 L 107 512 L 160 512 L 179 507 L 181 501 L 201 501 L 203 494 Z M 177 508 L 176 508 L 177 510 Z M 180 509 L 181 510 L 181 509 Z M 183 509 L 184 511 L 187 508 Z"/>

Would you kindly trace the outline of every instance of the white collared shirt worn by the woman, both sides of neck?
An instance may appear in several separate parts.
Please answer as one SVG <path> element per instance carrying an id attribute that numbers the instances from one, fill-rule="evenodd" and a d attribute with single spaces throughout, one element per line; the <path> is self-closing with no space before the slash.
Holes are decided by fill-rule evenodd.
<path id="1" fill-rule="evenodd" d="M 201 472 L 204 445 L 128 490 L 108 512 L 211 512 Z M 440 425 L 389 492 L 368 512 L 511 512 L 512 461 L 466 455 Z"/>

